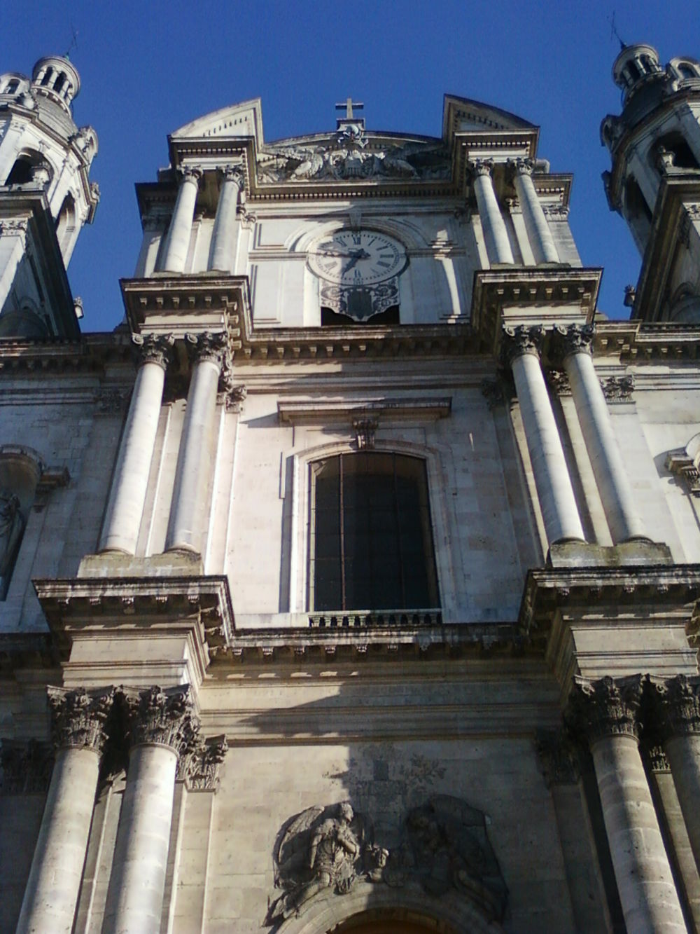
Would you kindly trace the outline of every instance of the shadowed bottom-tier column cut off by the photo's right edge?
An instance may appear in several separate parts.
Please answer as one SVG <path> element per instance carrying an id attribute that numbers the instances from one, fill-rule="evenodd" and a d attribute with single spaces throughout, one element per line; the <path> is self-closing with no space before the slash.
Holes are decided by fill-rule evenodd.
<path id="1" fill-rule="evenodd" d="M 700 870 L 700 677 L 679 674 L 656 687 L 665 728 L 664 751 Z"/>

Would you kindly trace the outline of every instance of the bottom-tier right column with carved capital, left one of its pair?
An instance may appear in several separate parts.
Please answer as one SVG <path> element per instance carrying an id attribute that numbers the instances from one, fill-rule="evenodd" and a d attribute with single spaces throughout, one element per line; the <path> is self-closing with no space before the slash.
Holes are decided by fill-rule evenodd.
<path id="1" fill-rule="evenodd" d="M 577 679 L 569 719 L 591 745 L 624 923 L 635 934 L 686 930 L 639 755 L 640 675 Z"/>

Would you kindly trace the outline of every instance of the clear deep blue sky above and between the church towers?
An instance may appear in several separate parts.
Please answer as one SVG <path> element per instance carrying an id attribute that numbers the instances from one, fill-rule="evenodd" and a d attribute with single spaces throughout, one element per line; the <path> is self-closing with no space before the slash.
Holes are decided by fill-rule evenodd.
<path id="1" fill-rule="evenodd" d="M 334 104 L 348 94 L 364 102 L 368 129 L 439 135 L 445 92 L 539 124 L 539 155 L 574 174 L 569 220 L 581 258 L 605 267 L 599 307 L 626 318 L 623 287 L 636 283 L 639 256 L 600 180 L 609 167 L 600 121 L 620 106 L 613 9 L 625 42 L 650 42 L 663 62 L 700 58 L 697 0 L 25 2 L 3 30 L 0 73 L 28 74 L 41 55 L 65 52 L 75 28 L 75 117 L 100 139 L 91 177 L 102 200 L 69 268 L 83 330 L 109 330 L 122 316 L 119 277 L 133 275 L 140 243 L 133 185 L 167 163 L 167 134 L 257 96 L 266 139 L 334 127 Z"/>

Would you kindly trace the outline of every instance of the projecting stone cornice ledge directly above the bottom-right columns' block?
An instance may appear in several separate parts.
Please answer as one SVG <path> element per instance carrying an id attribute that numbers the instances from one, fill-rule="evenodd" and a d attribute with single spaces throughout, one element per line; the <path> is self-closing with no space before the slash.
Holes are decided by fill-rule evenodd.
<path id="1" fill-rule="evenodd" d="M 518 627 L 535 641 L 546 638 L 555 611 L 586 607 L 589 619 L 624 616 L 635 608 L 675 616 L 691 630 L 700 598 L 700 564 L 626 566 L 621 568 L 543 568 L 530 570 L 520 605 Z M 655 617 L 649 616 L 649 623 Z"/>

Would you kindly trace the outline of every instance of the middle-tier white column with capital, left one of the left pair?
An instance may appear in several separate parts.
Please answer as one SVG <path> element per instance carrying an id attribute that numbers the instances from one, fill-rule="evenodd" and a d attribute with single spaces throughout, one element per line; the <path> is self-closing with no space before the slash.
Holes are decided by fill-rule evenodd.
<path id="1" fill-rule="evenodd" d="M 165 370 L 172 346 L 173 338 L 170 336 L 149 334 L 140 340 L 142 363 L 136 375 L 119 447 L 99 551 L 135 554 L 156 445 Z"/>

